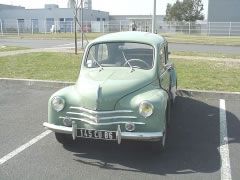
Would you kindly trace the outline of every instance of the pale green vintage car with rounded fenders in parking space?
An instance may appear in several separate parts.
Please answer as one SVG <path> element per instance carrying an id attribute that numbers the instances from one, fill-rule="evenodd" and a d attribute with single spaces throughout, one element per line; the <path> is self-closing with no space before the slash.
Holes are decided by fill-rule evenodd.
<path id="1" fill-rule="evenodd" d="M 76 84 L 50 97 L 43 126 L 63 144 L 143 140 L 164 149 L 177 88 L 168 55 L 167 41 L 157 34 L 119 32 L 93 40 Z"/>

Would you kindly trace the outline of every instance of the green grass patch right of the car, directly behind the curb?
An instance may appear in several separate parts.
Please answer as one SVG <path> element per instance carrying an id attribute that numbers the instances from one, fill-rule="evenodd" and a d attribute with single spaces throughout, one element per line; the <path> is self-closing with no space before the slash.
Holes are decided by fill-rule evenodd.
<path id="1" fill-rule="evenodd" d="M 240 62 L 185 61 L 184 58 L 173 61 L 179 88 L 240 92 Z"/>

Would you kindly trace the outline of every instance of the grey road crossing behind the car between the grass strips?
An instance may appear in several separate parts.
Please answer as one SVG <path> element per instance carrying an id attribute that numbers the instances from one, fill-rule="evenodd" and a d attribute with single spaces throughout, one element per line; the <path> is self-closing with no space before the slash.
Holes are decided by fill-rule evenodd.
<path id="1" fill-rule="evenodd" d="M 84 44 L 86 44 L 86 41 Z M 24 46 L 29 48 L 74 48 L 74 40 L 0 39 L 0 45 Z M 81 46 L 80 41 L 78 42 L 78 46 Z M 240 46 L 169 43 L 169 50 L 239 54 Z"/>

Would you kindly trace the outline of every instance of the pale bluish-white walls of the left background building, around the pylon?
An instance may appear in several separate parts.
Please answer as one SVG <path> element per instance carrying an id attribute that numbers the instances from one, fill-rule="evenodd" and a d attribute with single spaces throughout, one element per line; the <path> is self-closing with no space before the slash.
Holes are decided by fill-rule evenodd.
<path id="1" fill-rule="evenodd" d="M 1 6 L 0 6 L 1 7 Z M 80 19 L 81 11 L 79 12 Z M 50 32 L 52 26 L 57 31 L 71 32 L 73 29 L 73 9 L 58 8 L 54 5 L 46 6 L 44 9 L 24 8 L 2 8 L 0 9 L 0 21 L 3 30 L 17 32 Z M 108 21 L 109 13 L 91 9 L 83 10 L 83 20 L 86 21 Z"/>

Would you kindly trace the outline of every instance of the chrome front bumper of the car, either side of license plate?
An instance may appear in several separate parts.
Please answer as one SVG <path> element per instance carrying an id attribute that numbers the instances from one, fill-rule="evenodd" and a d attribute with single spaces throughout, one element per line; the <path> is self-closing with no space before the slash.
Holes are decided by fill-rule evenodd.
<path id="1" fill-rule="evenodd" d="M 72 127 L 58 126 L 47 122 L 43 123 L 43 126 L 49 130 L 58 133 L 72 134 L 73 139 L 77 138 L 77 124 L 72 121 Z M 118 125 L 117 131 L 117 142 L 121 144 L 122 139 L 136 140 L 136 141 L 158 141 L 162 138 L 162 132 L 122 132 L 120 125 Z"/>

